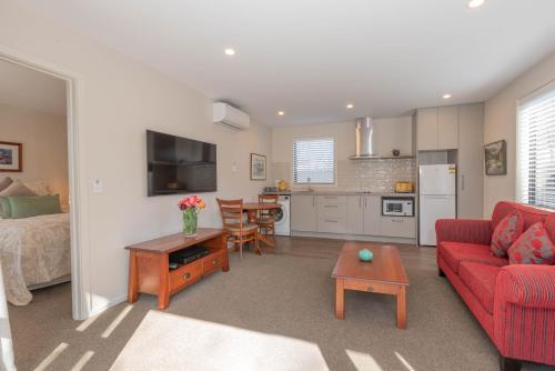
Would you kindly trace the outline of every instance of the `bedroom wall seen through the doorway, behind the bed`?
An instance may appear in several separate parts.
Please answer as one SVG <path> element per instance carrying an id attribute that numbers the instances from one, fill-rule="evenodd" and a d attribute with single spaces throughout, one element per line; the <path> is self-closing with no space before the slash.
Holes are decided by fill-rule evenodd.
<path id="1" fill-rule="evenodd" d="M 23 143 L 23 172 L 0 172 L 26 181 L 44 181 L 68 203 L 68 133 L 64 116 L 0 104 L 0 141 Z"/>

